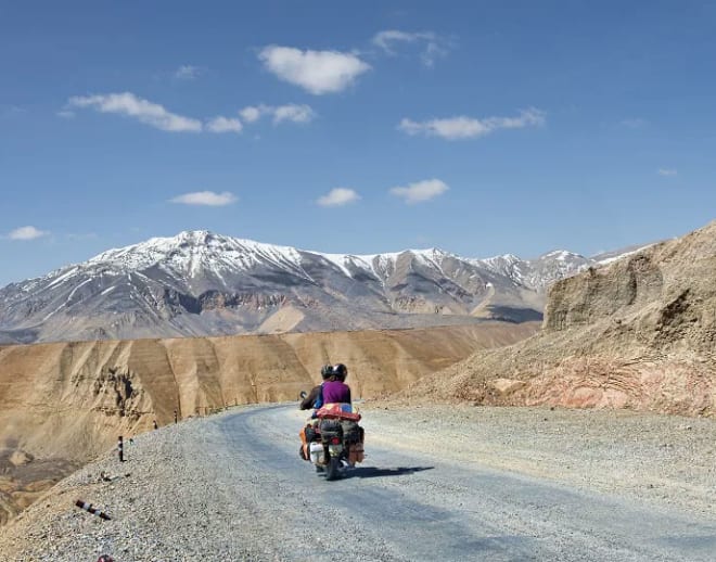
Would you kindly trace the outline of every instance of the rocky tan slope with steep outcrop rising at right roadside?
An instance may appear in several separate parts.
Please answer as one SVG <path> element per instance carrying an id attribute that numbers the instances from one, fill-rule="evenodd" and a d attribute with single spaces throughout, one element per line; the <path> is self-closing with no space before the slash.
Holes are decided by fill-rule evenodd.
<path id="1" fill-rule="evenodd" d="M 557 282 L 535 336 L 400 394 L 716 413 L 716 222 Z"/>

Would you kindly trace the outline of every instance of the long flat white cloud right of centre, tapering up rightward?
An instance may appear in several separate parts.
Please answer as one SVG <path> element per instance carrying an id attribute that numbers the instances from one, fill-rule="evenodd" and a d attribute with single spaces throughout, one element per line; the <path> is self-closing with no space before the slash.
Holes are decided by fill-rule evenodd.
<path id="1" fill-rule="evenodd" d="M 498 129 L 521 129 L 536 127 L 545 124 L 545 113 L 530 107 L 520 112 L 517 117 L 487 117 L 475 119 L 459 116 L 447 119 L 431 119 L 427 122 L 413 122 L 402 119 L 398 129 L 408 135 L 425 135 L 426 137 L 442 137 L 448 140 L 472 139 L 484 137 Z"/>

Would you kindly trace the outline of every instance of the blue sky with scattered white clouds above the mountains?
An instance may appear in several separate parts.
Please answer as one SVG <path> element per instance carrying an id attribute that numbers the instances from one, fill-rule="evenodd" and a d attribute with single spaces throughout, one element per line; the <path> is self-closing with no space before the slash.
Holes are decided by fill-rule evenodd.
<path id="1" fill-rule="evenodd" d="M 715 218 L 714 2 L 246 4 L 0 2 L 0 284 L 188 229 L 527 258 Z"/>

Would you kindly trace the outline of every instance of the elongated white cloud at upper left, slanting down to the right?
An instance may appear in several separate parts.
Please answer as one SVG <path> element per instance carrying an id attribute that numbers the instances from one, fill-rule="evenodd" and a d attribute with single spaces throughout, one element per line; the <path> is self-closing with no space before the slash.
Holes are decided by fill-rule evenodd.
<path id="1" fill-rule="evenodd" d="M 168 112 L 162 105 L 138 98 L 131 92 L 104 95 L 75 95 L 69 98 L 71 107 L 92 107 L 100 113 L 118 113 L 170 132 L 199 132 L 202 123 Z"/>

